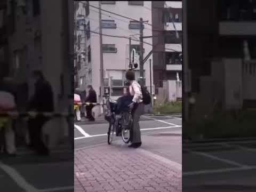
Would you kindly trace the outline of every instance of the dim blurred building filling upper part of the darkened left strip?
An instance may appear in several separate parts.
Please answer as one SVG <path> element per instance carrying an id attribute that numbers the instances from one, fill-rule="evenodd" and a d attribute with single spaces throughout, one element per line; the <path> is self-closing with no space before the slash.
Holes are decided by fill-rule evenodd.
<path id="1" fill-rule="evenodd" d="M 31 95 L 34 84 L 30 74 L 35 69 L 41 70 L 52 85 L 55 111 L 73 110 L 70 83 L 73 82 L 74 66 L 73 61 L 70 62 L 73 49 L 69 49 L 69 44 L 73 44 L 69 38 L 73 21 L 69 21 L 74 7 L 62 0 L 11 0 L 6 1 L 6 5 L 9 46 L 5 61 L 9 68 L 5 75 L 19 83 L 28 83 Z M 73 38 L 73 33 L 71 35 Z"/>

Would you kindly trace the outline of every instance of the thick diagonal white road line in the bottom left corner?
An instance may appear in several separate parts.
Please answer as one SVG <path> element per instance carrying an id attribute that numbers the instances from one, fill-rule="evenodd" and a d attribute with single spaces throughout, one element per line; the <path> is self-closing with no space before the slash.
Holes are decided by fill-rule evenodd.
<path id="1" fill-rule="evenodd" d="M 17 185 L 24 189 L 25 191 L 37 192 L 34 186 L 30 185 L 15 169 L 10 166 L 5 165 L 0 161 L 0 168 L 5 171 L 16 183 Z"/>

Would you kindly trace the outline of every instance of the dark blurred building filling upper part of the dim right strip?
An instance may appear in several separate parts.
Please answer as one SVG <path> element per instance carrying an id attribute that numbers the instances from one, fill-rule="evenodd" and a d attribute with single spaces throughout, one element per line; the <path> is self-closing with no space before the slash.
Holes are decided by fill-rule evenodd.
<path id="1" fill-rule="evenodd" d="M 190 111 L 191 118 L 201 118 L 215 107 L 255 106 L 255 1 L 183 3 L 185 101 L 192 95 L 196 111 Z"/>

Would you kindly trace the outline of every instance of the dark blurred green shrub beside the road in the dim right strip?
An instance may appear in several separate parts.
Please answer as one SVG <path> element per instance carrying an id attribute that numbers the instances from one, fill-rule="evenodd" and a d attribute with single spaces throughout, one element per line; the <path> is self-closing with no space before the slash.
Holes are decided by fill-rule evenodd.
<path id="1" fill-rule="evenodd" d="M 207 119 L 183 125 L 183 138 L 197 138 L 201 134 L 205 139 L 256 137 L 256 110 L 215 111 Z"/>

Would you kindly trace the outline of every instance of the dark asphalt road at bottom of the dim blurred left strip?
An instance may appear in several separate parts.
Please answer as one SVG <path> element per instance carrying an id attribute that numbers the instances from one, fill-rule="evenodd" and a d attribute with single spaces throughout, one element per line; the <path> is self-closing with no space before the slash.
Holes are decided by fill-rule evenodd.
<path id="1" fill-rule="evenodd" d="M 0 155 L 0 191 L 74 191 L 74 152 L 62 146 L 50 156 L 19 148 L 17 156 Z"/>

